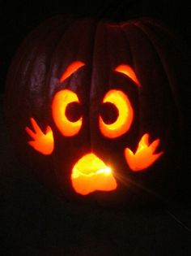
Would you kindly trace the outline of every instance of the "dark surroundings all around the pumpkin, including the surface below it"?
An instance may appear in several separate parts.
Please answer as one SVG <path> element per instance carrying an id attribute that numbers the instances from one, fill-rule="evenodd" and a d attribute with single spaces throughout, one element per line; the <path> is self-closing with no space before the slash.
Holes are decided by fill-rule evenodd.
<path id="1" fill-rule="evenodd" d="M 162 20 L 190 49 L 190 3 L 184 1 L 1 1 L 0 84 L 24 37 L 52 15 L 74 13 Z M 1 256 L 190 256 L 190 199 L 168 206 L 111 210 L 63 202 L 20 166 L 6 133 L 0 98 Z M 189 192 L 189 188 L 186 189 Z"/>

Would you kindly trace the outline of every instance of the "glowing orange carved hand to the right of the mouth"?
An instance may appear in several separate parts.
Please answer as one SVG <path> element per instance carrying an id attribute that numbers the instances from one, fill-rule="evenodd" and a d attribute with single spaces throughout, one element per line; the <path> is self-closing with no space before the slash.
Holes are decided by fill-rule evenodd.
<path id="1" fill-rule="evenodd" d="M 150 167 L 163 154 L 163 152 L 155 154 L 160 142 L 159 139 L 153 141 L 151 145 L 149 145 L 148 140 L 149 134 L 145 133 L 138 143 L 135 154 L 129 148 L 125 148 L 125 159 L 132 171 L 142 171 Z"/>

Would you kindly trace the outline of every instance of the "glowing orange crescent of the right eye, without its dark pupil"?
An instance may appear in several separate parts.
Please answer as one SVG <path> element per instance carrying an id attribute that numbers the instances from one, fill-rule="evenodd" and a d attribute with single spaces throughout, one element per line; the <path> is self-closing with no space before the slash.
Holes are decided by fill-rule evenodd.
<path id="1" fill-rule="evenodd" d="M 112 124 L 105 124 L 100 116 L 100 131 L 105 137 L 116 138 L 127 132 L 134 118 L 134 111 L 125 93 L 117 89 L 111 89 L 104 96 L 103 103 L 111 102 L 117 107 L 119 115 Z"/>

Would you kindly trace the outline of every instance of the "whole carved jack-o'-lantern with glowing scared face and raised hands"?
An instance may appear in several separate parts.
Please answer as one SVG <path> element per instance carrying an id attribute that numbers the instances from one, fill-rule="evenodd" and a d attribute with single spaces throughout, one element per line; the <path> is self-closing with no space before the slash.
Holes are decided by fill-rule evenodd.
<path id="1" fill-rule="evenodd" d="M 19 154 L 69 198 L 168 198 L 181 161 L 177 49 L 149 19 L 45 21 L 8 74 L 6 119 Z"/>

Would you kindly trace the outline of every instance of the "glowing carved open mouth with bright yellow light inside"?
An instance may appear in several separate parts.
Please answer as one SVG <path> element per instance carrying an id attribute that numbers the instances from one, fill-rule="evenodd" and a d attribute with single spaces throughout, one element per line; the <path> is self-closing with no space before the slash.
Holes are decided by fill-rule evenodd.
<path id="1" fill-rule="evenodd" d="M 96 190 L 112 191 L 117 189 L 112 169 L 93 153 L 86 154 L 75 163 L 71 182 L 75 192 L 82 195 Z"/>

